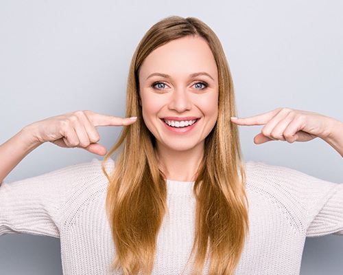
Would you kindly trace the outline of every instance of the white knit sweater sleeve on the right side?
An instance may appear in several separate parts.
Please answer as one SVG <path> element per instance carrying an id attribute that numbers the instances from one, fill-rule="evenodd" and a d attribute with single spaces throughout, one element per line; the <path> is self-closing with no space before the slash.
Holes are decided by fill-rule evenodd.
<path id="1" fill-rule="evenodd" d="M 306 236 L 343 234 L 343 184 L 263 163 L 248 163 L 247 172 L 249 187 L 276 201 Z"/>

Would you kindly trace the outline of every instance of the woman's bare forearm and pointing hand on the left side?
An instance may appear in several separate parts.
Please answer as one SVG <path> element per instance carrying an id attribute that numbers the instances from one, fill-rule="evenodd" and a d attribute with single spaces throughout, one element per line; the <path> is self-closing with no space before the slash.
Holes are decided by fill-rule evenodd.
<path id="1" fill-rule="evenodd" d="M 95 127 L 130 125 L 136 119 L 75 111 L 29 124 L 0 145 L 0 182 L 26 155 L 44 142 L 65 148 L 80 147 L 97 155 L 105 155 L 106 148 L 97 143 L 100 137 Z"/>

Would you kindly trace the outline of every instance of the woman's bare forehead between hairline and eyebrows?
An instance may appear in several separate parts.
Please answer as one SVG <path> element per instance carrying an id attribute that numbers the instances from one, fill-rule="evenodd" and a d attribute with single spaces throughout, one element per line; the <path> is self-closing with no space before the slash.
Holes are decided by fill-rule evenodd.
<path id="1" fill-rule="evenodd" d="M 217 65 L 207 42 L 198 36 L 186 36 L 158 47 L 145 58 L 139 78 L 163 73 L 170 76 L 184 76 L 206 72 L 217 78 Z"/>

